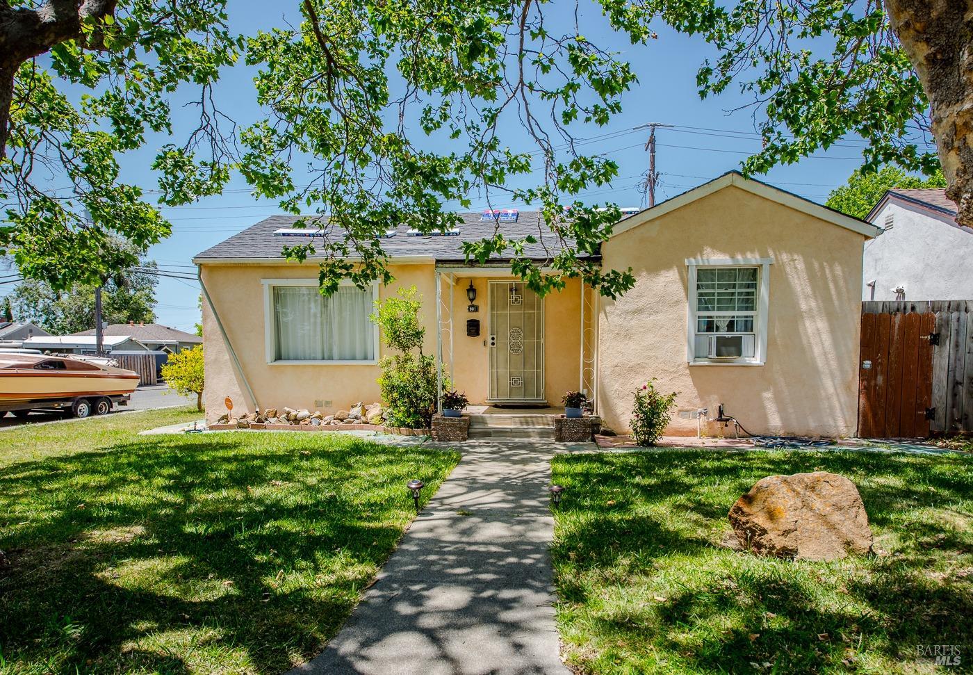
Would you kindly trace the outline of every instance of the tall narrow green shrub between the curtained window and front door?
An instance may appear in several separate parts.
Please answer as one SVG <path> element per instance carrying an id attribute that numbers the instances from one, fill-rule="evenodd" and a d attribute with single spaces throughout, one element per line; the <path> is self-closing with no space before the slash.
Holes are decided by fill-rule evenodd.
<path id="1" fill-rule="evenodd" d="M 378 386 L 389 426 L 426 428 L 436 412 L 436 359 L 422 353 L 421 307 L 422 296 L 413 286 L 399 289 L 398 296 L 376 301 L 371 316 L 385 344 L 400 352 L 378 362 Z M 450 388 L 445 377 L 443 384 Z"/>

